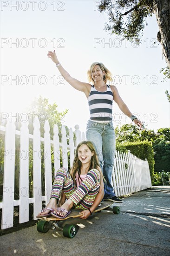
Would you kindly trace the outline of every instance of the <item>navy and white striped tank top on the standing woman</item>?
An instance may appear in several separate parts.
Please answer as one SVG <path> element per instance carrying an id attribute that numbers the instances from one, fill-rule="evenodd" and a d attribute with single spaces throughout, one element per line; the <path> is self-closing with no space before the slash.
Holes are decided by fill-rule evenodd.
<path id="1" fill-rule="evenodd" d="M 112 121 L 113 93 L 109 85 L 105 92 L 99 92 L 92 85 L 89 97 L 87 98 L 90 110 L 90 120 L 99 123 Z"/>

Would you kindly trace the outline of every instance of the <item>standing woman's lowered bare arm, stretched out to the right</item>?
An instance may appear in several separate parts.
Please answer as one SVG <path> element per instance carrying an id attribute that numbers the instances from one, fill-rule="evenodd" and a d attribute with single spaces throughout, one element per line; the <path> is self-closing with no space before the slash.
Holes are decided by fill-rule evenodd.
<path id="1" fill-rule="evenodd" d="M 124 101 L 122 100 L 122 98 L 120 97 L 119 93 L 118 93 L 118 89 L 116 88 L 116 86 L 111 86 L 111 90 L 113 93 L 113 97 L 114 97 L 114 101 L 118 104 L 118 107 L 120 108 L 120 110 L 127 115 L 128 117 L 131 117 L 132 113 L 129 110 L 129 108 L 127 107 L 127 105 L 124 103 Z M 133 120 L 133 122 L 135 124 L 137 124 L 137 126 L 139 126 L 139 129 L 141 130 L 142 128 L 142 123 L 140 120 L 138 120 L 137 118 Z"/>

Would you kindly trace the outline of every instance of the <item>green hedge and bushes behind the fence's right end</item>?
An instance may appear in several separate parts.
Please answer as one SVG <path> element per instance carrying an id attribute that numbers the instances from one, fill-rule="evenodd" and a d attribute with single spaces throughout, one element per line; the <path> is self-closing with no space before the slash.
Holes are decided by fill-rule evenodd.
<path id="1" fill-rule="evenodd" d="M 134 124 L 124 124 L 115 128 L 115 134 L 118 151 L 131 150 L 131 153 L 137 157 L 143 160 L 147 158 L 153 183 L 160 182 L 157 174 L 154 176 L 154 171 L 157 173 L 162 170 L 170 171 L 170 128 L 159 128 L 157 132 L 147 128 L 139 131 Z"/>

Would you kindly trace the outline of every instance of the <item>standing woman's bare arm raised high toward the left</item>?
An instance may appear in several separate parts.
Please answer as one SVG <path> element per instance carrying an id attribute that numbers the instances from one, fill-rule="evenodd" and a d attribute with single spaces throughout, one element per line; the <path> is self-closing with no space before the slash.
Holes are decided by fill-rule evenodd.
<path id="1" fill-rule="evenodd" d="M 53 52 L 48 52 L 48 58 L 50 58 L 55 64 L 59 64 L 59 60 L 57 58 L 57 55 L 55 53 L 55 50 Z M 91 85 L 89 83 L 80 82 L 77 79 L 73 78 L 60 64 L 58 66 L 60 74 L 64 77 L 64 79 L 76 90 L 84 92 L 86 97 L 89 96 Z"/>

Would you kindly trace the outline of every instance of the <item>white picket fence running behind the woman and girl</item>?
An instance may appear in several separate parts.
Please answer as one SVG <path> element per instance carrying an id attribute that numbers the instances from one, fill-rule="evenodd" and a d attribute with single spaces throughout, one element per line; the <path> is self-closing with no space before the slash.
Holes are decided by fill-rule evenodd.
<path id="1" fill-rule="evenodd" d="M 65 126 L 62 126 L 62 140 L 59 142 L 58 126 L 53 127 L 53 140 L 50 138 L 50 126 L 48 121 L 44 123 L 44 138 L 40 136 L 40 123 L 38 117 L 33 123 L 33 135 L 29 134 L 28 122 L 21 123 L 20 131 L 16 130 L 14 122 L 7 122 L 6 126 L 0 126 L 0 133 L 5 134 L 4 148 L 4 181 L 3 198 L 0 202 L 2 209 L 1 229 L 13 227 L 14 206 L 19 206 L 19 223 L 29 221 L 29 204 L 33 203 L 33 219 L 42 208 L 42 202 L 49 202 L 52 189 L 52 159 L 51 150 L 54 152 L 54 174 L 60 168 L 60 154 L 62 152 L 63 167 L 68 168 L 67 152 L 70 151 L 70 163 L 74 159 L 75 148 L 80 141 L 85 140 L 85 134 L 75 126 L 76 141 L 73 140 L 72 128 L 69 130 L 69 145 L 67 145 Z M 15 178 L 15 140 L 20 138 L 20 199 L 14 200 Z M 33 141 L 33 159 L 29 155 L 29 141 Z M 45 190 L 41 191 L 41 143 L 44 143 L 45 164 Z M 116 160 L 112 175 L 113 186 L 117 196 L 128 195 L 139 190 L 151 187 L 150 170 L 148 161 L 138 159 L 130 152 L 122 154 L 116 151 Z M 29 198 L 29 161 L 33 161 L 33 198 Z"/>

